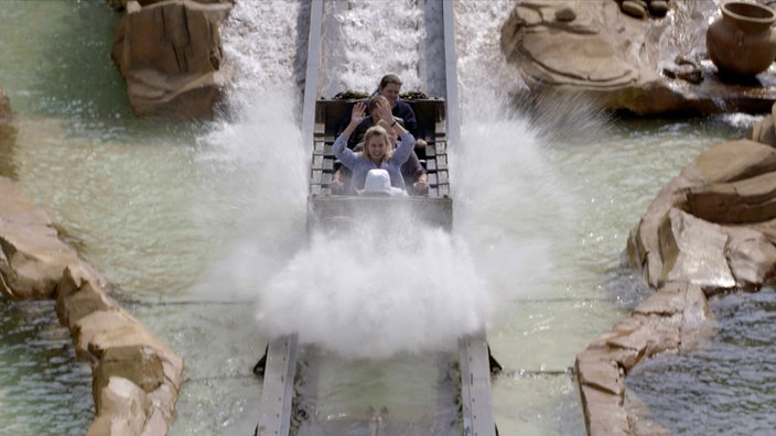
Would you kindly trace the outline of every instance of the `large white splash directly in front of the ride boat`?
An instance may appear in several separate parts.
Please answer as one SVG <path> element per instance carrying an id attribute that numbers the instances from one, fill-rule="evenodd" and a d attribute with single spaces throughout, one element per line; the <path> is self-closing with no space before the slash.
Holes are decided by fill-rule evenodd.
<path id="1" fill-rule="evenodd" d="M 484 327 L 489 299 L 466 244 L 410 217 L 385 219 L 315 231 L 262 293 L 263 329 L 298 331 L 345 357 L 387 358 L 449 349 Z"/>

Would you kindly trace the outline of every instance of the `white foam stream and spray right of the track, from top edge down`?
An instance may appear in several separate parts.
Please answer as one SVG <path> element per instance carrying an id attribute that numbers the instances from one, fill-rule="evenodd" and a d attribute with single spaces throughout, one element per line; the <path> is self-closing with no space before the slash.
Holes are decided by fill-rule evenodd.
<path id="1" fill-rule="evenodd" d="M 556 271 L 562 257 L 553 241 L 573 237 L 575 215 L 573 195 L 547 162 L 551 153 L 510 109 L 513 94 L 525 88 L 499 48 L 513 8 L 509 0 L 455 7 L 462 120 L 450 163 L 456 233 L 498 303 L 531 295 Z"/>

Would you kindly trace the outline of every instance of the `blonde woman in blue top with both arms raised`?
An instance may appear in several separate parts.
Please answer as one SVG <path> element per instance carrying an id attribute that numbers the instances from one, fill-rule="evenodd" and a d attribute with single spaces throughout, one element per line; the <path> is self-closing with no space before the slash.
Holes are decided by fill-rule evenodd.
<path id="1" fill-rule="evenodd" d="M 406 189 L 405 179 L 401 176 L 401 165 L 412 153 L 414 137 L 394 119 L 390 103 L 385 99 L 379 99 L 376 102 L 375 112 L 378 116 L 377 126 L 370 127 L 364 134 L 364 151 L 354 153 L 347 148 L 347 140 L 366 118 L 364 102 L 357 102 L 353 106 L 351 122 L 334 141 L 334 156 L 353 172 L 351 184 L 345 189 L 347 194 L 363 189 L 367 173 L 374 168 L 386 170 L 390 175 L 391 186 Z M 388 130 L 391 130 L 401 140 L 396 150 L 388 138 Z"/>

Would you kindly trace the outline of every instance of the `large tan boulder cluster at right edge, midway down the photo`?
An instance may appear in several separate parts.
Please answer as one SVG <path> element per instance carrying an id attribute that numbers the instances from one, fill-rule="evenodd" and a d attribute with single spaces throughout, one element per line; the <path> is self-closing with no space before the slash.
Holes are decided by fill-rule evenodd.
<path id="1" fill-rule="evenodd" d="M 657 196 L 628 239 L 628 259 L 660 287 L 758 288 L 776 273 L 776 149 L 724 142 Z"/>

